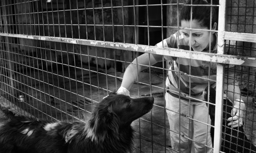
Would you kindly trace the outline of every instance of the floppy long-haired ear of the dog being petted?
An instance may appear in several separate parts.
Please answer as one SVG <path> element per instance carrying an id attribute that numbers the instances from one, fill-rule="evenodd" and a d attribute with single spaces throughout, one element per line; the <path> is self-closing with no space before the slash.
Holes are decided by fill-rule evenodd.
<path id="1" fill-rule="evenodd" d="M 119 120 L 109 110 L 97 111 L 88 124 L 90 128 L 87 129 L 87 137 L 91 137 L 92 141 L 103 142 L 106 137 L 118 138 Z"/>

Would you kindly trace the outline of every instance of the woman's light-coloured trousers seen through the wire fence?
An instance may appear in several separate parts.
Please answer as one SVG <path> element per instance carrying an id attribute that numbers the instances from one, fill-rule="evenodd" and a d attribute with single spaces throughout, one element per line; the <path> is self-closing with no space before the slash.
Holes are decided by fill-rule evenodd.
<path id="1" fill-rule="evenodd" d="M 209 148 L 212 147 L 211 127 L 200 123 L 211 124 L 206 104 L 200 101 L 189 103 L 188 100 L 176 98 L 167 92 L 165 100 L 171 130 L 171 148 L 180 153 L 212 153 L 212 149 Z"/>

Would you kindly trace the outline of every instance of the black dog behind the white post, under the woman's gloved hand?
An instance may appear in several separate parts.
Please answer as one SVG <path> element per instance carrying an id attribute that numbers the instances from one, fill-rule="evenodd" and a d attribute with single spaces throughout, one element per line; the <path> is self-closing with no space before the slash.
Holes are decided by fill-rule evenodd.
<path id="1" fill-rule="evenodd" d="M 205 88 L 203 91 L 204 100 L 207 101 L 209 93 L 209 103 L 215 104 L 216 90 L 209 87 Z M 206 103 L 208 106 L 208 104 Z M 232 117 L 233 103 L 228 98 L 223 98 L 223 120 L 222 120 L 222 142 L 221 151 L 225 153 L 256 153 L 256 147 L 252 142 L 246 137 L 243 125 L 240 127 L 227 126 L 230 122 L 227 119 Z M 214 126 L 215 120 L 215 106 L 209 104 L 209 116 L 211 118 L 211 125 Z M 214 127 L 210 129 L 211 140 L 214 142 Z M 213 145 L 213 143 L 212 143 Z"/>

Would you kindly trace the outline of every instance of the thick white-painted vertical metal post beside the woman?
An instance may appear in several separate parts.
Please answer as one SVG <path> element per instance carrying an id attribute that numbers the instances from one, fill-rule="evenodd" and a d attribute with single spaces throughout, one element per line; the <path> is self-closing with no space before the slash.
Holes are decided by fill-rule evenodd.
<path id="1" fill-rule="evenodd" d="M 225 40 L 223 32 L 225 31 L 225 14 L 226 0 L 219 1 L 219 16 L 218 16 L 218 54 L 224 53 Z M 214 128 L 214 153 L 219 153 L 221 149 L 221 134 L 222 134 L 222 118 L 223 118 L 223 73 L 224 67 L 217 64 L 216 77 L 216 105 L 215 105 L 215 128 Z M 219 112 L 219 113 L 217 113 Z"/>

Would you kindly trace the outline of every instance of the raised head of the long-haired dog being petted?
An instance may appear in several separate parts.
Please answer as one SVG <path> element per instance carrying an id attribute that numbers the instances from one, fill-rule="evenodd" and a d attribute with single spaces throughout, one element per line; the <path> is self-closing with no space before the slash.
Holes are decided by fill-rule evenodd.
<path id="1" fill-rule="evenodd" d="M 87 125 L 90 126 L 87 137 L 103 141 L 109 133 L 118 135 L 120 130 L 130 128 L 131 122 L 148 113 L 153 104 L 153 97 L 131 98 L 113 92 L 95 106 Z"/>

